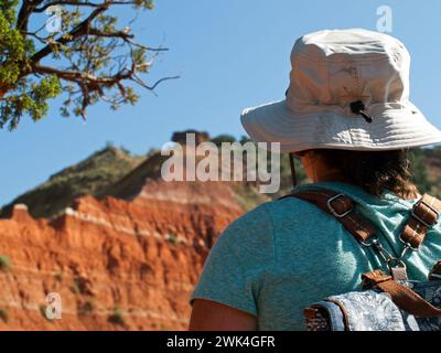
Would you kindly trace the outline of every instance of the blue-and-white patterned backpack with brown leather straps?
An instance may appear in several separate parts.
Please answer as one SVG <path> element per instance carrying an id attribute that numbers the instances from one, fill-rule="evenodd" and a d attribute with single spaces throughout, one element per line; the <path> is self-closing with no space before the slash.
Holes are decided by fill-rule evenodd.
<path id="1" fill-rule="evenodd" d="M 418 252 L 424 236 L 440 218 L 441 201 L 423 194 L 413 205 L 396 257 L 380 244 L 373 223 L 355 213 L 347 195 L 315 189 L 284 197 L 308 201 L 333 215 L 366 248 L 384 260 L 388 272 L 376 269 L 362 275 L 362 290 L 331 296 L 304 309 L 308 331 L 441 331 L 441 260 L 429 272 L 428 281 L 407 277 L 402 260 L 407 252 Z"/>

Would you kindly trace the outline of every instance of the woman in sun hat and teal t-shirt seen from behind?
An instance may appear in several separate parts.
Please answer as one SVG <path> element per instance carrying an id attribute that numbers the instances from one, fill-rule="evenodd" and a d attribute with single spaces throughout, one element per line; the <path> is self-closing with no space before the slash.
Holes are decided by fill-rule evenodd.
<path id="1" fill-rule="evenodd" d="M 409 101 L 410 57 L 396 39 L 365 30 L 321 31 L 291 53 L 284 100 L 246 109 L 255 141 L 280 142 L 302 159 L 311 184 L 348 195 L 381 244 L 402 254 L 401 226 L 421 196 L 409 149 L 441 143 L 441 131 Z M 441 258 L 441 227 L 406 252 L 408 275 L 424 280 Z M 191 302 L 191 330 L 302 330 L 303 309 L 359 288 L 384 268 L 335 217 L 295 197 L 262 204 L 230 224 L 206 260 Z"/>

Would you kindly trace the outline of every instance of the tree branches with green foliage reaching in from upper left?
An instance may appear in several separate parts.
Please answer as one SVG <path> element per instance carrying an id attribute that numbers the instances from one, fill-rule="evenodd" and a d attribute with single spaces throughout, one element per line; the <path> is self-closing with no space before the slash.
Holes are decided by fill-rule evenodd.
<path id="1" fill-rule="evenodd" d="M 0 0 L 0 128 L 14 129 L 23 115 L 39 120 L 47 100 L 66 95 L 63 116 L 86 118 L 97 101 L 117 109 L 136 104 L 135 86 L 153 90 L 147 74 L 153 57 L 166 49 L 135 41 L 111 9 L 135 12 L 152 0 Z M 49 14 L 51 17 L 49 17 Z M 43 23 L 43 24 L 42 24 Z"/>

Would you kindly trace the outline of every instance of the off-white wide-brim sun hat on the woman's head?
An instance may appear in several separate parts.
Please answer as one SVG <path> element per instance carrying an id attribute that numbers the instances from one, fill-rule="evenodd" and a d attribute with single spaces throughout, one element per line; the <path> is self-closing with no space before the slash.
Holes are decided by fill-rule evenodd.
<path id="1" fill-rule="evenodd" d="M 286 99 L 247 108 L 256 142 L 281 152 L 395 150 L 441 143 L 441 131 L 409 100 L 410 55 L 397 39 L 352 29 L 300 38 Z"/>

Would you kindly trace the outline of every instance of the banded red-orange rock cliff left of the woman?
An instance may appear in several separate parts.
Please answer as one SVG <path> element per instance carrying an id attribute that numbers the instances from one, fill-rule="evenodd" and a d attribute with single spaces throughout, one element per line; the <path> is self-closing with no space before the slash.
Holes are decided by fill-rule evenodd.
<path id="1" fill-rule="evenodd" d="M 241 213 L 229 185 L 197 182 L 84 196 L 52 220 L 15 205 L 0 220 L 0 330 L 185 329 L 208 248 Z M 44 315 L 49 292 L 61 320 Z"/>

